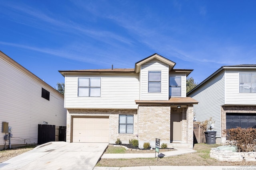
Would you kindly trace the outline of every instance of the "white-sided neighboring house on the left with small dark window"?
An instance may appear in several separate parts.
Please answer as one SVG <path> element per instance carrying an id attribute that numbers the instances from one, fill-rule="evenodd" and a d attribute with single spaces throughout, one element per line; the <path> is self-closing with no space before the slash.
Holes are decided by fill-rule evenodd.
<path id="1" fill-rule="evenodd" d="M 12 127 L 11 147 L 36 144 L 38 124 L 43 122 L 66 126 L 62 94 L 1 51 L 0 72 L 0 149 L 9 145 L 2 122 Z"/>

